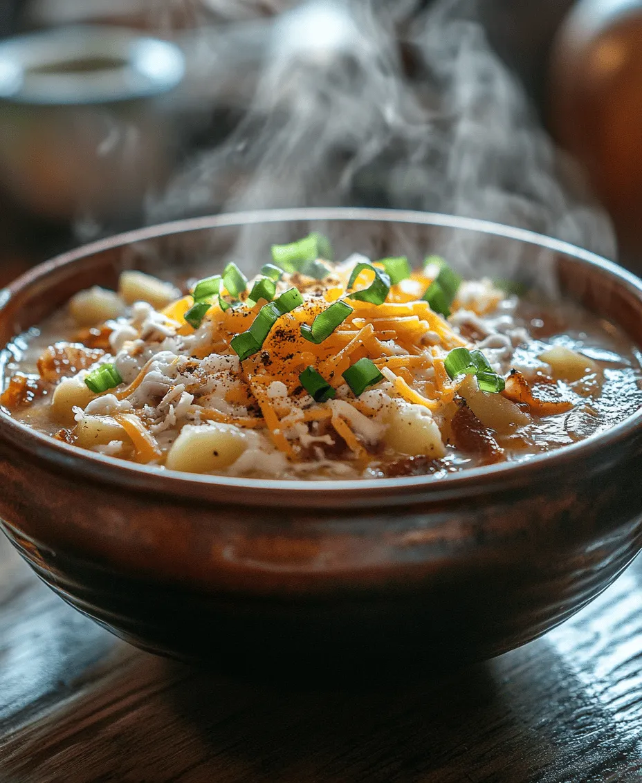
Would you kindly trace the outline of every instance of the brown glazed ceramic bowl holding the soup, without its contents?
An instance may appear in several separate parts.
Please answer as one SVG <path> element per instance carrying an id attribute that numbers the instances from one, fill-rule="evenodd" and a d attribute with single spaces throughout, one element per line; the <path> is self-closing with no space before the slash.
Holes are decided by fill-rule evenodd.
<path id="1" fill-rule="evenodd" d="M 211 274 L 225 258 L 265 262 L 270 242 L 310 229 L 337 258 L 510 262 L 642 346 L 642 282 L 587 251 L 464 218 L 340 208 L 199 218 L 63 255 L 0 292 L 0 346 L 121 269 Z M 0 515 L 52 590 L 139 647 L 246 671 L 381 673 L 498 655 L 604 590 L 642 547 L 640 457 L 638 412 L 528 463 L 438 480 L 258 481 L 88 453 L 0 410 Z"/>

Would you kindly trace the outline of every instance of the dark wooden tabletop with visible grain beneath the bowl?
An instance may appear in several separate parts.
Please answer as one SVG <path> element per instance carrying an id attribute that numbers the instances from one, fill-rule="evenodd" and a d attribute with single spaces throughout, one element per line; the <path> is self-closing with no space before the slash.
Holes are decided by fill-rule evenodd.
<path id="1" fill-rule="evenodd" d="M 546 637 L 396 687 L 290 689 L 135 651 L 0 542 L 9 783 L 642 780 L 642 561 Z"/>

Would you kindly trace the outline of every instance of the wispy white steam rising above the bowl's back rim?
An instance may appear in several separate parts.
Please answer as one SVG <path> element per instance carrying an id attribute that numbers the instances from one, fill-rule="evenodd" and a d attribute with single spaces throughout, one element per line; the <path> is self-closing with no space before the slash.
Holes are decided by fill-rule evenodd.
<path id="1" fill-rule="evenodd" d="M 148 201 L 149 222 L 259 207 L 408 207 L 613 254 L 608 218 L 492 52 L 474 0 L 416 5 L 316 0 L 280 18 L 242 121 Z"/>

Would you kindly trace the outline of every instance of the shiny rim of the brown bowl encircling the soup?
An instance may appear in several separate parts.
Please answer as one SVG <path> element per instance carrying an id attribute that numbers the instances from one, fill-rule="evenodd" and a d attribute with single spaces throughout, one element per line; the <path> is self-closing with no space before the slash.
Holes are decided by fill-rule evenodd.
<path id="1" fill-rule="evenodd" d="M 642 280 L 626 269 L 622 269 L 606 258 L 575 247 L 564 240 L 557 240 L 513 226 L 503 226 L 478 218 L 464 218 L 456 215 L 442 215 L 434 212 L 420 212 L 394 209 L 373 209 L 362 207 L 291 207 L 283 209 L 233 212 L 208 215 L 166 222 L 157 226 L 135 229 L 110 236 L 103 240 L 85 244 L 67 253 L 35 266 L 0 290 L 0 317 L 9 301 L 19 292 L 43 280 L 52 272 L 90 258 L 93 254 L 117 247 L 203 229 L 222 229 L 260 223 L 335 221 L 335 222 L 397 222 L 414 225 L 475 231 L 491 236 L 500 236 L 532 244 L 545 250 L 566 254 L 579 261 L 597 267 L 601 272 L 615 278 L 621 287 L 629 290 L 642 303 Z M 5 346 L 0 346 L 4 351 Z M 501 463 L 485 467 L 471 467 L 465 471 L 435 478 L 431 475 L 400 478 L 354 478 L 354 479 L 274 479 L 236 478 L 229 476 L 189 474 L 168 471 L 150 465 L 140 465 L 120 460 L 117 457 L 78 449 L 57 441 L 27 424 L 13 419 L 0 406 L 0 438 L 9 441 L 31 456 L 61 468 L 74 471 L 100 483 L 126 485 L 129 489 L 160 493 L 167 496 L 187 496 L 193 500 L 223 500 L 243 506 L 298 506 L 305 502 L 311 507 L 342 507 L 349 503 L 359 505 L 392 505 L 416 501 L 435 500 L 441 502 L 454 496 L 470 497 L 481 491 L 507 491 L 518 489 L 524 483 L 550 480 L 552 471 L 568 469 L 585 462 L 590 456 L 607 447 L 633 436 L 638 428 L 642 430 L 642 409 L 616 424 L 615 427 L 591 435 L 555 449 L 552 452 L 532 456 L 525 462 Z M 235 491 L 236 490 L 236 491 Z M 230 494 L 233 493 L 233 497 Z"/>

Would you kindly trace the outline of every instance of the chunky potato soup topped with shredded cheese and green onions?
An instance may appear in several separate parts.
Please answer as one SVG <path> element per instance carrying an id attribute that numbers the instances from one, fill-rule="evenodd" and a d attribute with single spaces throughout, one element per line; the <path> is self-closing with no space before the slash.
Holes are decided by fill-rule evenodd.
<path id="1" fill-rule="evenodd" d="M 334 263 L 319 234 L 182 290 L 123 272 L 16 337 L 2 406 L 161 470 L 388 478 L 520 462 L 642 404 L 611 323 L 429 256 Z"/>

